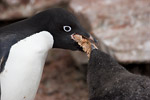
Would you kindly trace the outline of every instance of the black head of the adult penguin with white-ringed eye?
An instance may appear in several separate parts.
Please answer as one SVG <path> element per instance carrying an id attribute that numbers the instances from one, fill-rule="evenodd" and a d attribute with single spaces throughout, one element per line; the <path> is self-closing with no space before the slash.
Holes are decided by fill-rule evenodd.
<path id="1" fill-rule="evenodd" d="M 77 18 L 70 12 L 62 8 L 53 8 L 49 10 L 50 23 L 48 31 L 54 38 L 53 48 L 62 48 L 70 50 L 81 50 L 82 48 L 75 42 L 71 36 L 79 34 L 86 38 L 95 40 L 79 23 Z"/>

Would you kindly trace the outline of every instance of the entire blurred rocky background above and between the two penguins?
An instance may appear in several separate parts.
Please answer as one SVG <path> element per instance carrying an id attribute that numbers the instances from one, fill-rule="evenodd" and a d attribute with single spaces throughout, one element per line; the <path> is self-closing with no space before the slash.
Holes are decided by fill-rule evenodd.
<path id="1" fill-rule="evenodd" d="M 0 0 L 0 27 L 52 7 L 74 13 L 130 72 L 150 76 L 150 0 Z M 84 53 L 51 50 L 35 100 L 88 100 L 87 64 Z"/>

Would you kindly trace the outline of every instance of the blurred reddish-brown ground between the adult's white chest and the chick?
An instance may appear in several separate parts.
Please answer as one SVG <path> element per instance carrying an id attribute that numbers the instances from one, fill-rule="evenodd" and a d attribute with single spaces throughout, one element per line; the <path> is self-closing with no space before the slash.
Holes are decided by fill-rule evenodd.
<path id="1" fill-rule="evenodd" d="M 47 63 L 35 100 L 88 100 L 86 76 L 67 51 Z"/>

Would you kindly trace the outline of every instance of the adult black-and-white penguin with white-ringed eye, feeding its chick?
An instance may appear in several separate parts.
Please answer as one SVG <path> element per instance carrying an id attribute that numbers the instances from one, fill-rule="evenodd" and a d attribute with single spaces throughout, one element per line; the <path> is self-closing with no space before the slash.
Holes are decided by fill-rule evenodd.
<path id="1" fill-rule="evenodd" d="M 0 29 L 1 100 L 33 100 L 48 51 L 52 48 L 81 50 L 71 39 L 91 38 L 76 17 L 52 8 Z"/>

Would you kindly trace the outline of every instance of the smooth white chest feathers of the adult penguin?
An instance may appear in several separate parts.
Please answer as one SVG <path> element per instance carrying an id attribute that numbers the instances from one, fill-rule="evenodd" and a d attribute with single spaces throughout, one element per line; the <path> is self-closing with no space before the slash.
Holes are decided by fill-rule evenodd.
<path id="1" fill-rule="evenodd" d="M 42 31 L 14 44 L 0 75 L 1 100 L 34 100 L 53 37 Z"/>

